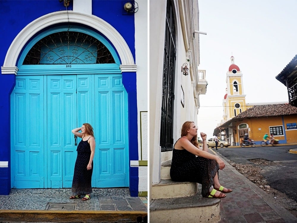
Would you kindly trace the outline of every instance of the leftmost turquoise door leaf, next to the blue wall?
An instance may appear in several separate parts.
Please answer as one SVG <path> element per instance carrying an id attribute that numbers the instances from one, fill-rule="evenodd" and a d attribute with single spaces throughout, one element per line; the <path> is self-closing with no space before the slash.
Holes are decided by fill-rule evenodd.
<path id="1" fill-rule="evenodd" d="M 12 187 L 44 187 L 43 77 L 16 78 L 11 94 Z"/>

